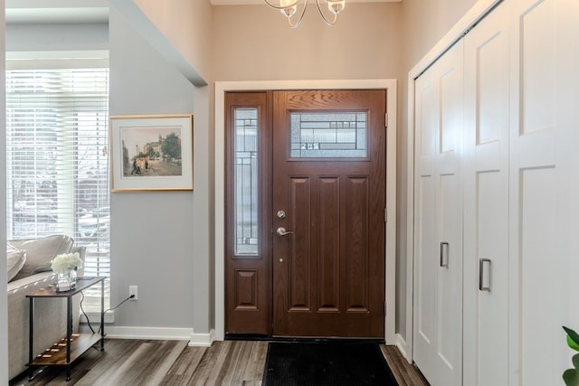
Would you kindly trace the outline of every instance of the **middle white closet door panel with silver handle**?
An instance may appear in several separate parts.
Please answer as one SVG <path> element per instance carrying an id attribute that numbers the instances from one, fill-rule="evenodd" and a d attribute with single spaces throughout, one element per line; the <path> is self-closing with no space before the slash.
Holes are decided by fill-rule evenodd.
<path id="1" fill-rule="evenodd" d="M 508 384 L 507 5 L 464 38 L 465 385 Z"/>

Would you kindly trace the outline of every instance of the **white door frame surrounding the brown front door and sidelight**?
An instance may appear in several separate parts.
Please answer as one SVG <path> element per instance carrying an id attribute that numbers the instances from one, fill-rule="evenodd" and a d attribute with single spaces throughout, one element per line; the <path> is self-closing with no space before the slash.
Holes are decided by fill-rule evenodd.
<path id="1" fill-rule="evenodd" d="M 280 89 L 386 89 L 386 221 L 384 340 L 395 343 L 396 323 L 396 113 L 397 80 L 256 80 L 215 82 L 214 334 L 225 337 L 225 92 Z"/>

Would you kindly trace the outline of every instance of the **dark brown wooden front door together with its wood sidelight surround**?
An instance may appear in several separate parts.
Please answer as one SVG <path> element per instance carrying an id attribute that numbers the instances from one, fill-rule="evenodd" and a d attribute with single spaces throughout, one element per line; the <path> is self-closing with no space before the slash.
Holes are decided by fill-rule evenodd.
<path id="1" fill-rule="evenodd" d="M 262 95 L 262 240 L 228 253 L 226 332 L 384 338 L 385 91 Z"/>

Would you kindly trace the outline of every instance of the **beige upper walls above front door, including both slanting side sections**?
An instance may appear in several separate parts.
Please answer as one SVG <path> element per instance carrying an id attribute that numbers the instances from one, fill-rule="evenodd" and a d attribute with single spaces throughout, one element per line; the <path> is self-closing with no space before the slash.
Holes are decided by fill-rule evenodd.
<path id="1" fill-rule="evenodd" d="M 310 5 L 295 30 L 266 5 L 134 3 L 210 81 L 384 78 L 401 71 L 405 79 L 476 0 L 348 4 L 331 28 Z"/>

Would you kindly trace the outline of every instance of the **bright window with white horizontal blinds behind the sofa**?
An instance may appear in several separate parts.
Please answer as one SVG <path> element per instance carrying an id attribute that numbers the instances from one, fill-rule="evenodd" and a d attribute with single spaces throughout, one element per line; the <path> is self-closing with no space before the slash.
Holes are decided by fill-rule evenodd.
<path id="1" fill-rule="evenodd" d="M 109 277 L 108 125 L 108 69 L 6 71 L 6 237 L 67 234 L 86 276 Z"/>

